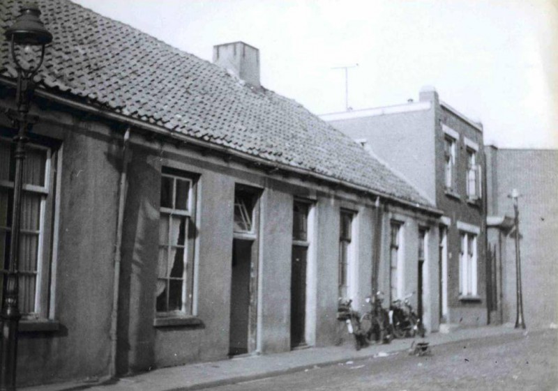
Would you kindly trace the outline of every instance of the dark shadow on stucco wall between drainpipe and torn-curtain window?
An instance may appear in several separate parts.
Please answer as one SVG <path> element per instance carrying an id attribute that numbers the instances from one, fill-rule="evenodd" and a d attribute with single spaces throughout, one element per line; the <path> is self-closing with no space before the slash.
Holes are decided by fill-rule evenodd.
<path id="1" fill-rule="evenodd" d="M 134 151 L 124 208 L 116 374 L 153 365 L 160 171 Z"/>

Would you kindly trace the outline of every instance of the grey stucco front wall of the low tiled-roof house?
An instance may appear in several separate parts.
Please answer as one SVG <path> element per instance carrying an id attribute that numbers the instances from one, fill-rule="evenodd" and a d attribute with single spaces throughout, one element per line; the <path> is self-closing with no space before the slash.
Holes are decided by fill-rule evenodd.
<path id="1" fill-rule="evenodd" d="M 9 107 L 10 102 L 3 105 Z M 297 176 L 273 175 L 250 164 L 228 162 L 206 151 L 153 141 L 131 129 L 127 191 L 123 210 L 117 335 L 111 339 L 114 248 L 123 128 L 98 116 L 62 106 L 33 109 L 37 142 L 48 139 L 59 151 L 56 183 L 57 240 L 45 322 L 22 321 L 18 383 L 52 383 L 106 376 L 116 344 L 119 374 L 227 358 L 231 319 L 235 186 L 259 193 L 255 345 L 253 352 L 289 351 L 294 200 L 310 203 L 310 251 L 306 280 L 306 344 L 327 346 L 352 336 L 335 319 L 338 305 L 340 210 L 353 213 L 350 273 L 352 296 L 361 310 L 372 292 L 375 230 L 381 229 L 377 289 L 389 290 L 389 223 L 403 224 L 405 279 L 416 291 L 418 227 L 429 232 L 425 266 L 424 319 L 437 329 L 437 224 L 425 212 L 382 197 L 332 188 Z M 7 123 L 2 135 L 10 137 Z M 161 173 L 170 167 L 197 176 L 195 313 L 182 323 L 158 324 Z M 379 204 L 377 204 L 379 202 Z M 378 213 L 381 209 L 382 213 Z M 381 223 L 378 222 L 380 219 Z M 380 228 L 381 227 L 381 228 Z M 386 271 L 387 270 L 387 271 Z M 416 295 L 412 299 L 416 305 Z M 340 327 L 341 325 L 341 327 Z M 87 338 L 84 338 L 87 335 Z"/>

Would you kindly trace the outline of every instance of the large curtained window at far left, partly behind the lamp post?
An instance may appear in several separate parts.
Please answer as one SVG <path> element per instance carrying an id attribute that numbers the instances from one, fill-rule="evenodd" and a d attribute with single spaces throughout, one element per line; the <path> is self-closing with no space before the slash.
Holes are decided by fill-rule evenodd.
<path id="1" fill-rule="evenodd" d="M 0 300 L 8 273 L 13 210 L 15 159 L 9 139 L 0 138 Z M 49 317 L 54 167 L 57 153 L 27 144 L 23 164 L 18 306 L 23 319 Z M 1 302 L 1 301 L 0 301 Z"/>

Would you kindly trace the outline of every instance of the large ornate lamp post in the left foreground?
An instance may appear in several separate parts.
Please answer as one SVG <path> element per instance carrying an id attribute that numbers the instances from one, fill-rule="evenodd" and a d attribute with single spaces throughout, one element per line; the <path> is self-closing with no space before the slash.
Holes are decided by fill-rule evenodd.
<path id="1" fill-rule="evenodd" d="M 10 253 L 8 273 L 4 279 L 2 303 L 2 339 L 0 354 L 0 390 L 15 390 L 15 369 L 17 364 L 17 328 L 21 319 L 17 306 L 19 282 L 17 268 L 20 250 L 20 225 L 22 209 L 23 163 L 27 137 L 27 114 L 33 94 L 33 77 L 45 58 L 45 45 L 52 42 L 52 34 L 45 29 L 40 20 L 40 10 L 35 3 L 27 3 L 21 8 L 15 23 L 6 29 L 6 40 L 10 43 L 10 52 L 17 69 L 17 135 L 15 144 L 15 178 L 13 186 L 12 227 L 10 236 Z M 33 61 L 30 57 L 40 50 L 40 58 Z M 21 57 L 21 58 L 20 58 Z"/>

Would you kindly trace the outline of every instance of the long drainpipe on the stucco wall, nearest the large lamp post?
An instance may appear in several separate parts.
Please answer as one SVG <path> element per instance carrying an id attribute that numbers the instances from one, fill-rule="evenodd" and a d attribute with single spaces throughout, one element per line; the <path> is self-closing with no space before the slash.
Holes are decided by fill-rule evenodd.
<path id="1" fill-rule="evenodd" d="M 122 168 L 120 172 L 118 220 L 116 220 L 116 244 L 114 245 L 114 281 L 112 293 L 112 314 L 110 318 L 110 367 L 109 376 L 116 376 L 116 343 L 118 323 L 118 300 L 120 287 L 120 261 L 122 246 L 122 228 L 124 220 L 124 204 L 126 203 L 126 174 L 128 174 L 128 140 L 130 139 L 130 127 L 124 133 L 122 146 Z"/>

